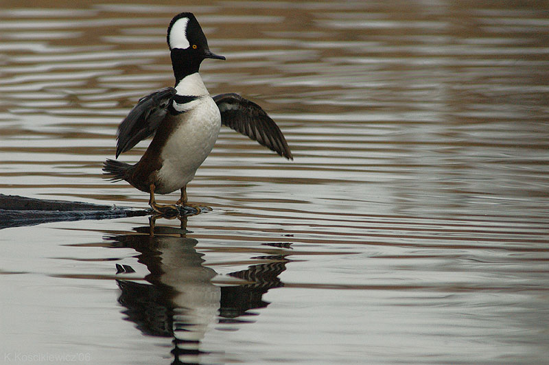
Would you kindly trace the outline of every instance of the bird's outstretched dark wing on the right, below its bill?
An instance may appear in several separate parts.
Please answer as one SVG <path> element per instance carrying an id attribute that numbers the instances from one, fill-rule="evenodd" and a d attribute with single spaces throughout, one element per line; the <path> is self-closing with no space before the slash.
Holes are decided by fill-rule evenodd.
<path id="1" fill-rule="evenodd" d="M 261 109 L 261 106 L 238 94 L 220 94 L 213 97 L 221 113 L 221 123 L 259 142 L 279 155 L 293 160 L 292 152 L 279 126 Z"/>

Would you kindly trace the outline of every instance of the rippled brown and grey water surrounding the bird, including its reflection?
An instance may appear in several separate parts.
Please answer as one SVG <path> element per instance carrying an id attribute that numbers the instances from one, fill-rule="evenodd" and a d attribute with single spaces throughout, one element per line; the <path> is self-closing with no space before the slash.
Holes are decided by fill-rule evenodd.
<path id="1" fill-rule="evenodd" d="M 0 231 L 0 362 L 549 364 L 546 1 L 139 2 L 3 1 L 0 193 L 147 206 L 100 169 L 180 11 L 295 161 L 224 129 L 190 233 Z"/>

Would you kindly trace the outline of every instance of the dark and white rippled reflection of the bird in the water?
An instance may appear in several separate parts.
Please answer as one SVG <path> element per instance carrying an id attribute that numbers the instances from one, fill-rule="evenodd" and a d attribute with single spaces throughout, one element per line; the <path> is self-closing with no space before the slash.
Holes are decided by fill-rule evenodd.
<path id="1" fill-rule="evenodd" d="M 204 266 L 204 255 L 195 249 L 198 241 L 185 237 L 186 217 L 180 228 L 150 226 L 135 228 L 143 235 L 106 237 L 113 247 L 139 252 L 139 262 L 148 268 L 148 283 L 117 279 L 119 303 L 128 320 L 145 335 L 173 338 L 172 364 L 200 364 L 200 342 L 217 323 L 238 322 L 249 309 L 266 307 L 261 297 L 282 285 L 278 276 L 285 270 L 285 255 L 259 257 L 261 264 L 229 275 L 244 279 L 245 285 L 220 287 L 211 282 L 216 272 Z M 265 263 L 267 262 L 267 263 Z M 117 265 L 119 274 L 133 272 Z"/>

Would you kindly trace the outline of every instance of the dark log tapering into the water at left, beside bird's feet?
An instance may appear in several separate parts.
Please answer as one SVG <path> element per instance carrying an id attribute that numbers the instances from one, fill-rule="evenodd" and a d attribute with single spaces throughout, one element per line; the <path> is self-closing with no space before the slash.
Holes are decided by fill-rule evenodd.
<path id="1" fill-rule="evenodd" d="M 110 205 L 40 200 L 0 194 L 0 229 L 73 220 L 106 220 L 148 215 L 150 209 L 128 209 Z"/>

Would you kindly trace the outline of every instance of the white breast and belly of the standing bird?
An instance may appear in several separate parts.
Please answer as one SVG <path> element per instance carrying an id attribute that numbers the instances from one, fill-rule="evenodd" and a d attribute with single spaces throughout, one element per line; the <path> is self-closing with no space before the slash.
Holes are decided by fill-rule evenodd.
<path id="1" fill-rule="evenodd" d="M 198 73 L 194 75 L 200 79 Z M 193 75 L 189 75 L 187 78 L 191 76 Z M 202 84 L 202 80 L 200 80 L 200 84 Z M 176 89 L 179 86 L 176 86 Z M 157 174 L 159 180 L 156 186 L 157 193 L 171 193 L 187 185 L 194 178 L 196 170 L 210 154 L 218 139 L 221 128 L 219 108 L 207 93 L 204 84 L 202 84 L 203 90 L 199 90 L 201 88 L 197 87 L 196 78 L 194 78 L 193 86 L 191 89 L 194 90 L 190 92 L 185 90 L 187 93 L 181 92 L 181 94 L 201 96 L 199 99 L 185 104 L 188 110 L 180 115 L 178 127 L 164 145 L 161 152 L 163 163 Z"/>

